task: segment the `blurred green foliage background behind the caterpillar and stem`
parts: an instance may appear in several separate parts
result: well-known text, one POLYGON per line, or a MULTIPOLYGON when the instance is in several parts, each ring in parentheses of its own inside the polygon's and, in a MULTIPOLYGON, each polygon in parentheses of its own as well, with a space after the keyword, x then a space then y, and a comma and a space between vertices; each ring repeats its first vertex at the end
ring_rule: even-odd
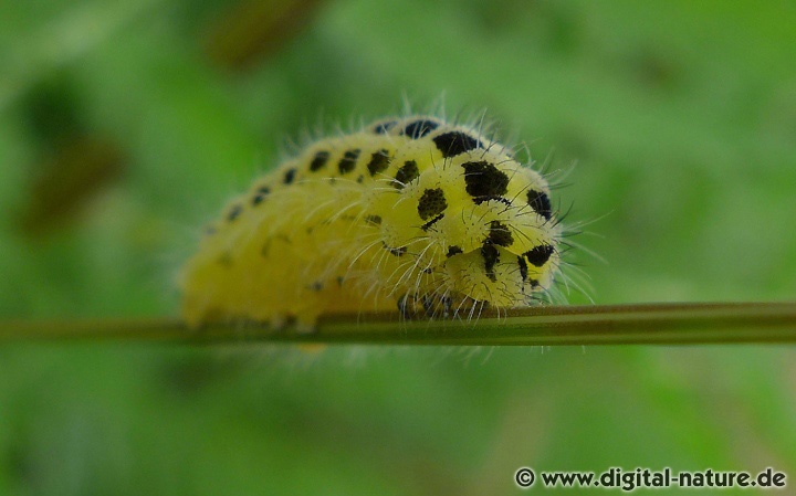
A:
MULTIPOLYGON (((794 61, 785 1, 2 2, 0 317, 176 314, 202 223, 285 138, 443 93, 572 169, 596 303, 794 299, 794 61)), ((4 345, 0 494, 514 494, 522 465, 794 487, 795 359, 4 345)))

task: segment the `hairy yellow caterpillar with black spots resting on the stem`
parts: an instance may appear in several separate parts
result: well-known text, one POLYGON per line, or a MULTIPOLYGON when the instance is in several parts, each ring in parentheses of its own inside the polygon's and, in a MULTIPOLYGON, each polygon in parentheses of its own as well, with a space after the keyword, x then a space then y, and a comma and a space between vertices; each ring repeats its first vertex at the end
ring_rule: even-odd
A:
POLYGON ((181 271, 185 320, 312 328, 327 313, 538 302, 562 226, 545 178, 493 138, 410 115, 311 143, 208 226, 181 271))

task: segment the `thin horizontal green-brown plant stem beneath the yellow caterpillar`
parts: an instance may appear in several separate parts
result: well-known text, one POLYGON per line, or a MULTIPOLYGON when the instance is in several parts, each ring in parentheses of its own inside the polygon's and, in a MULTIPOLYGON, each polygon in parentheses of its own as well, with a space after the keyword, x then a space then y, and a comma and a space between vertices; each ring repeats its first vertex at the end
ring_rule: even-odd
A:
POLYGON ((178 344, 661 345, 796 342, 796 303, 540 306, 484 312, 471 320, 400 320, 397 315, 322 318, 314 333, 237 323, 189 329, 177 318, 0 323, 0 344, 22 340, 178 344))

